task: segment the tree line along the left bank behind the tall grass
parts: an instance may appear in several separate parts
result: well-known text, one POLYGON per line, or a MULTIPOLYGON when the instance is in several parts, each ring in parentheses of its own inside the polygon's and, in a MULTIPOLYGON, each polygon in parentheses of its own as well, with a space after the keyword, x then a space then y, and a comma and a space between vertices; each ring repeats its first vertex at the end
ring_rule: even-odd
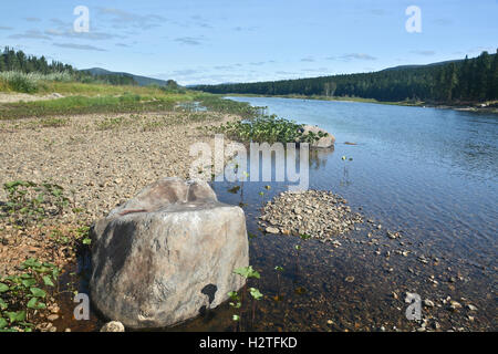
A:
POLYGON ((48 62, 44 55, 38 58, 35 55, 27 55, 23 51, 15 51, 6 46, 0 52, 0 72, 14 71, 22 73, 41 73, 51 74, 66 72, 71 74, 74 81, 80 82, 98 82, 112 85, 136 85, 135 80, 125 74, 106 74, 93 75, 92 73, 79 71, 72 65, 61 63, 59 61, 48 62))

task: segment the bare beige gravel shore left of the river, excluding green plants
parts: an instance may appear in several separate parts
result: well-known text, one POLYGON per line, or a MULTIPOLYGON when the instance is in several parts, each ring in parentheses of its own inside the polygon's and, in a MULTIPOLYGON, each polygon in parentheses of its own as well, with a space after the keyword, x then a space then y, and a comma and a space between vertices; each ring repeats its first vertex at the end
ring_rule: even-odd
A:
MULTIPOLYGON (((74 252, 46 237, 53 229, 90 225, 159 178, 187 178, 190 145, 214 144, 198 127, 236 118, 167 112, 0 121, 1 185, 50 181, 70 199, 62 215, 43 225, 19 228, 0 218, 0 275, 30 257, 64 266, 74 252)), ((0 202, 6 200, 1 189, 0 202)))

